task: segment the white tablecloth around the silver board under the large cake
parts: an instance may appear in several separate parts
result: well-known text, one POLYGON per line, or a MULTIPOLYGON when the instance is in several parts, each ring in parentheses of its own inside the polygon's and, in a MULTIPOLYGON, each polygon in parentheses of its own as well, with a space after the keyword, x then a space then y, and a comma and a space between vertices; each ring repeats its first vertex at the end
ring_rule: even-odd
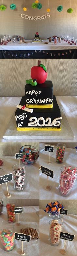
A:
MULTIPOLYGON (((0 142, 7 141, 2 139, 4 132, 7 128, 7 125, 16 110, 16 104, 19 104, 21 97, 0 97, 0 142)), ((56 97, 58 105, 62 106, 64 113, 68 119, 69 125, 75 138, 72 140, 73 142, 77 141, 77 96, 57 96, 56 97), (71 104, 72 103, 72 104, 71 104), (73 107, 72 107, 73 106, 73 107)), ((39 137, 37 137, 38 142, 40 142, 39 137)), ((14 140, 16 142, 18 140, 14 140)), ((31 140, 37 141, 37 140, 31 140)), ((45 140, 50 142, 48 138, 45 140)), ((54 139, 54 142, 58 140, 54 139)), ((70 142, 70 140, 66 140, 65 142, 70 142)), ((60 141, 59 141, 60 142, 60 141)))

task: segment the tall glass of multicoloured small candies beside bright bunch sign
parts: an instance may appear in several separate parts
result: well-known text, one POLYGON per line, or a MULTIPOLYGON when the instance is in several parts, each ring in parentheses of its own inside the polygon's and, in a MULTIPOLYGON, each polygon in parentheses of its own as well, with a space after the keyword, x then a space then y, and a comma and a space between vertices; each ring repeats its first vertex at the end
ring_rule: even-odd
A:
POLYGON ((57 144, 57 151, 56 151, 56 162, 57 163, 63 163, 65 147, 66 147, 66 145, 63 143, 57 144))

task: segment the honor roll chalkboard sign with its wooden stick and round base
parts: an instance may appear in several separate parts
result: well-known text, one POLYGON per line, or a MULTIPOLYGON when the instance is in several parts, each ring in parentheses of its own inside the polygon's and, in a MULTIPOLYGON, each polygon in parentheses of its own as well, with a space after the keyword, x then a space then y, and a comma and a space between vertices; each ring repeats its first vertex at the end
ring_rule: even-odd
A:
MULTIPOLYGON (((0 176, 0 185, 6 183, 7 192, 8 192, 8 184, 7 184, 7 183, 8 183, 9 181, 11 181, 12 179, 13 179, 12 173, 9 173, 9 174, 7 174, 7 175, 0 176)), ((7 197, 7 198, 11 197, 11 194, 8 192, 8 193, 6 194, 6 197, 7 197)))

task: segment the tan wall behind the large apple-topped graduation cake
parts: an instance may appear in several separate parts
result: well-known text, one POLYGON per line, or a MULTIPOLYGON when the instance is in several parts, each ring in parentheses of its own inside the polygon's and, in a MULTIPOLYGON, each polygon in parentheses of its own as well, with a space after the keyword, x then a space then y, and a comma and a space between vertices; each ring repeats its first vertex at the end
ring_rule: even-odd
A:
MULTIPOLYGON (((25 95, 26 79, 31 78, 31 67, 37 63, 38 59, 0 60, 0 96, 25 95)), ((55 96, 77 95, 76 59, 42 59, 42 64, 47 67, 47 80, 52 80, 55 96)))

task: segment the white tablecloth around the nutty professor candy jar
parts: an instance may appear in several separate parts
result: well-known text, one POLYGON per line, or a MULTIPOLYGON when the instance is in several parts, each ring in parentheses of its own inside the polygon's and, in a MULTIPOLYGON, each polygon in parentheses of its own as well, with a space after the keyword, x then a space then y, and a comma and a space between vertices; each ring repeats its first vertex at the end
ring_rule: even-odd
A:
MULTIPOLYGON (((51 218, 43 210, 40 210, 40 255, 61 256, 60 249, 64 248, 64 239, 60 239, 58 246, 52 246, 49 242, 49 221, 51 218)), ((62 232, 75 235, 73 242, 66 241, 66 256, 77 255, 77 232, 76 232, 77 215, 68 214, 64 216, 62 232)))

